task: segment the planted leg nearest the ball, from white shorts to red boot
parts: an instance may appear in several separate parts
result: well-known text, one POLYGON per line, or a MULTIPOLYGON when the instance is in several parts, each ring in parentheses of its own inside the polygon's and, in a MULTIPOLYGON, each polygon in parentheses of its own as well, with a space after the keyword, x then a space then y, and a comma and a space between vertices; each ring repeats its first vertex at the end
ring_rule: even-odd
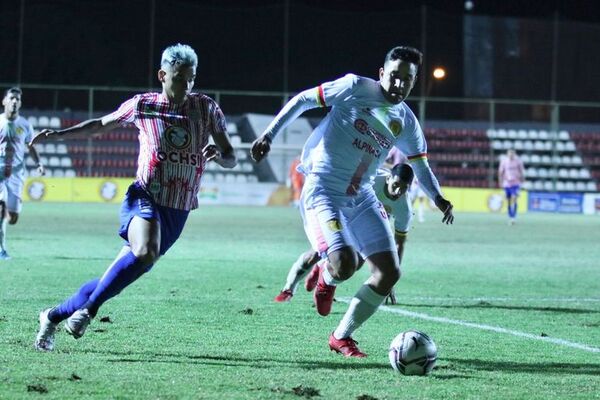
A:
POLYGON ((366 356, 356 347, 352 334, 367 321, 384 302, 400 279, 400 265, 391 229, 382 206, 365 204, 359 217, 350 222, 357 247, 366 256, 371 277, 356 292, 348 310, 329 338, 332 350, 351 357, 366 356))

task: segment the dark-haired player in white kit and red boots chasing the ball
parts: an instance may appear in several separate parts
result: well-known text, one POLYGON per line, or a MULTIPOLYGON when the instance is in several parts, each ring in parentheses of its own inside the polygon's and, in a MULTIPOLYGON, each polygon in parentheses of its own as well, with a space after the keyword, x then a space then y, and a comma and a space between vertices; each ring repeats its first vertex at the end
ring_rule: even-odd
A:
POLYGON ((294 96, 252 144, 257 162, 271 149, 275 136, 304 111, 331 106, 302 151, 306 175, 302 190, 304 227, 314 251, 327 254, 314 300, 317 312, 328 315, 336 285, 359 265, 369 264, 371 277, 358 290, 329 347, 345 356, 364 357, 352 333, 383 303, 398 279, 400 264, 387 214, 373 190, 373 178, 393 146, 408 156, 424 190, 452 223, 452 204, 441 192, 427 162, 427 145, 417 118, 404 99, 410 94, 422 61, 420 51, 391 49, 379 81, 348 74, 294 96))

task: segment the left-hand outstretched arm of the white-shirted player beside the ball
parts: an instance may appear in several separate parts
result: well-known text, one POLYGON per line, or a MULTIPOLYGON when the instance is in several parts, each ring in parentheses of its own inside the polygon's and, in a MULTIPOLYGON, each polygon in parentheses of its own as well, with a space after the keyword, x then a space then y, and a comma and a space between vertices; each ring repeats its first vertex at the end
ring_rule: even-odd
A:
MULTIPOLYGON (((271 150, 273 139, 285 127, 294 122, 303 112, 322 107, 318 98, 319 88, 312 88, 298 93, 279 111, 279 114, 271 121, 263 134, 252 143, 250 154, 254 161, 259 162, 267 156, 271 150), (317 93, 317 95, 315 95, 317 93)), ((321 91, 322 92, 322 91, 321 91)))

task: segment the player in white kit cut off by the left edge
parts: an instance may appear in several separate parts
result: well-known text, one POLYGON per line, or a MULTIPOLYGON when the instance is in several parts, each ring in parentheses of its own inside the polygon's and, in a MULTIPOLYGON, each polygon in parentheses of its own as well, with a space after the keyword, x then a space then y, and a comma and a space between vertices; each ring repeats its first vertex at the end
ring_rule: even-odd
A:
POLYGON ((23 206, 21 193, 25 180, 25 148, 37 165, 40 175, 44 166, 29 142, 33 137, 31 124, 19 115, 21 89, 12 87, 4 93, 0 115, 0 260, 9 260, 6 252, 6 224, 14 225, 19 220, 23 206))

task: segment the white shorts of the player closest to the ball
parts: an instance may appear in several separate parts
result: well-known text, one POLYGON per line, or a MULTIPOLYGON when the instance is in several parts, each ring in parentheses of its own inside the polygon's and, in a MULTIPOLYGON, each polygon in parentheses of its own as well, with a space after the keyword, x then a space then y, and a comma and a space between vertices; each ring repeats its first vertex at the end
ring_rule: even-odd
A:
POLYGON ((346 246, 365 259, 387 251, 396 254, 392 228, 373 188, 350 197, 305 184, 301 202, 306 236, 321 256, 346 246))

